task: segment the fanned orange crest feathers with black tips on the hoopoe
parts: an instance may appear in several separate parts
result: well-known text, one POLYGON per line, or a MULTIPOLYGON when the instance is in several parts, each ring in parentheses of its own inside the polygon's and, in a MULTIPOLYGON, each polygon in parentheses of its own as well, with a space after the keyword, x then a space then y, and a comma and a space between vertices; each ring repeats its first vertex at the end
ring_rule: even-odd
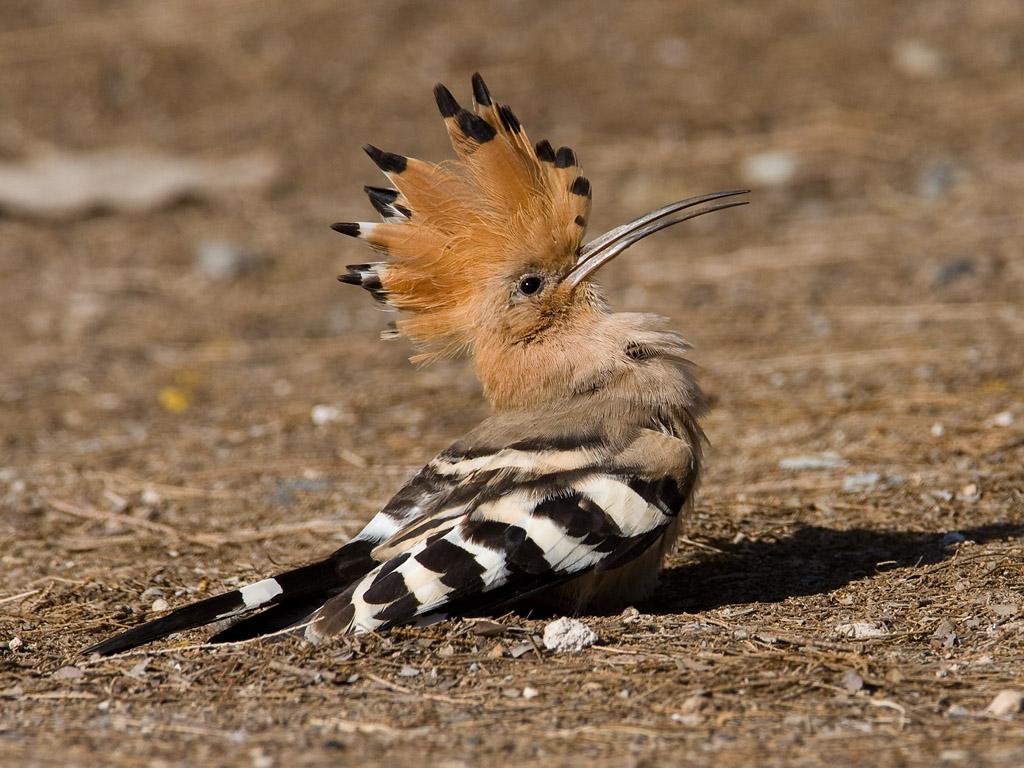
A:
POLYGON ((334 228, 369 243, 380 262, 339 280, 361 285, 404 317, 398 331, 424 350, 457 352, 472 342, 481 282, 534 267, 548 273, 575 263, 590 215, 590 182, 575 154, 530 143, 512 111, 472 79, 472 110, 443 85, 434 98, 457 160, 435 165, 368 144, 393 189, 368 186, 382 223, 334 228))

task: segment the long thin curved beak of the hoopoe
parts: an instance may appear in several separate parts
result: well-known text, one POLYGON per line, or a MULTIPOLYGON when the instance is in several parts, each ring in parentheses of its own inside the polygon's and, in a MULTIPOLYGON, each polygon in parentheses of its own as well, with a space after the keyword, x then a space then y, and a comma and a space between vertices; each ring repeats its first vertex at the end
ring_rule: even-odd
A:
POLYGON ((706 213, 744 206, 750 201, 740 200, 730 203, 718 203, 707 208, 698 208, 695 211, 686 209, 693 208, 702 203, 710 203, 713 200, 720 200, 721 198, 746 195, 749 191, 750 189, 735 189, 733 191, 712 193, 711 195, 688 198, 678 203, 670 203, 664 208, 658 208, 656 211, 644 214, 628 224, 616 226, 614 229, 592 240, 583 247, 580 251, 580 258, 577 259, 575 264, 562 278, 562 285, 566 286, 569 291, 574 290, 590 274, 593 274, 627 248, 637 241, 643 240, 648 234, 653 234, 660 229, 665 229, 667 226, 679 224, 697 216, 703 216, 706 213), (681 216, 672 215, 680 211, 686 211, 686 213, 681 216))

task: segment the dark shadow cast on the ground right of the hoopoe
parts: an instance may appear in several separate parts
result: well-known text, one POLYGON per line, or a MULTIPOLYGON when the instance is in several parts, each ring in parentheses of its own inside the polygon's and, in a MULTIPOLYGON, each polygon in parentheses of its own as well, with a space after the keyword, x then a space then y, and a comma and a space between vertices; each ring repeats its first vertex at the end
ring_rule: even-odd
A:
MULTIPOLYGON (((1022 537, 1024 525, 996 523, 959 532, 967 541, 984 544, 1022 537)), ((775 541, 709 543, 722 552, 701 553, 668 568, 654 597, 638 607, 649 613, 678 613, 779 602, 831 592, 885 570, 941 562, 956 551, 948 540, 943 546, 942 534, 817 525, 775 541)))

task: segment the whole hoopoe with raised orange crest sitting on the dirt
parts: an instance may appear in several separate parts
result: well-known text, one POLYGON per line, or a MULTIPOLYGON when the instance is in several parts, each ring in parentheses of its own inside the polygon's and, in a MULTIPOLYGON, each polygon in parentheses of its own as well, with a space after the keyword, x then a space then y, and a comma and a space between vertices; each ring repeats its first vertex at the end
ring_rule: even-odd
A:
POLYGON ((326 559, 86 653, 243 614, 211 642, 292 631, 325 643, 523 603, 579 612, 652 594, 693 506, 707 400, 687 342, 660 317, 611 312, 593 275, 648 234, 743 205, 717 201, 746 190, 673 203, 583 245, 591 185, 575 154, 531 144, 479 75, 472 85, 472 110, 434 89, 458 160, 366 146, 393 185, 366 187, 383 221, 333 228, 381 259, 339 280, 403 314, 390 335, 416 344, 415 360, 468 352, 493 415, 326 559))

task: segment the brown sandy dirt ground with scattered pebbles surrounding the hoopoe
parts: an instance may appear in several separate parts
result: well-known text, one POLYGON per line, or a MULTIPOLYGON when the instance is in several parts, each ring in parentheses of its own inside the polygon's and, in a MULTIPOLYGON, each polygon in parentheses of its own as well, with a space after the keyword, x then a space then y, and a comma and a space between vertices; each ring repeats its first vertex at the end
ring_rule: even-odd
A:
POLYGON ((1020 765, 1022 73, 1019 0, 5 0, 0 764, 1020 765), (592 236, 754 190, 602 272, 713 401, 657 596, 577 654, 511 614, 83 658, 336 548, 484 416, 329 229, 365 142, 449 157, 430 89, 477 70, 577 150, 592 236))

